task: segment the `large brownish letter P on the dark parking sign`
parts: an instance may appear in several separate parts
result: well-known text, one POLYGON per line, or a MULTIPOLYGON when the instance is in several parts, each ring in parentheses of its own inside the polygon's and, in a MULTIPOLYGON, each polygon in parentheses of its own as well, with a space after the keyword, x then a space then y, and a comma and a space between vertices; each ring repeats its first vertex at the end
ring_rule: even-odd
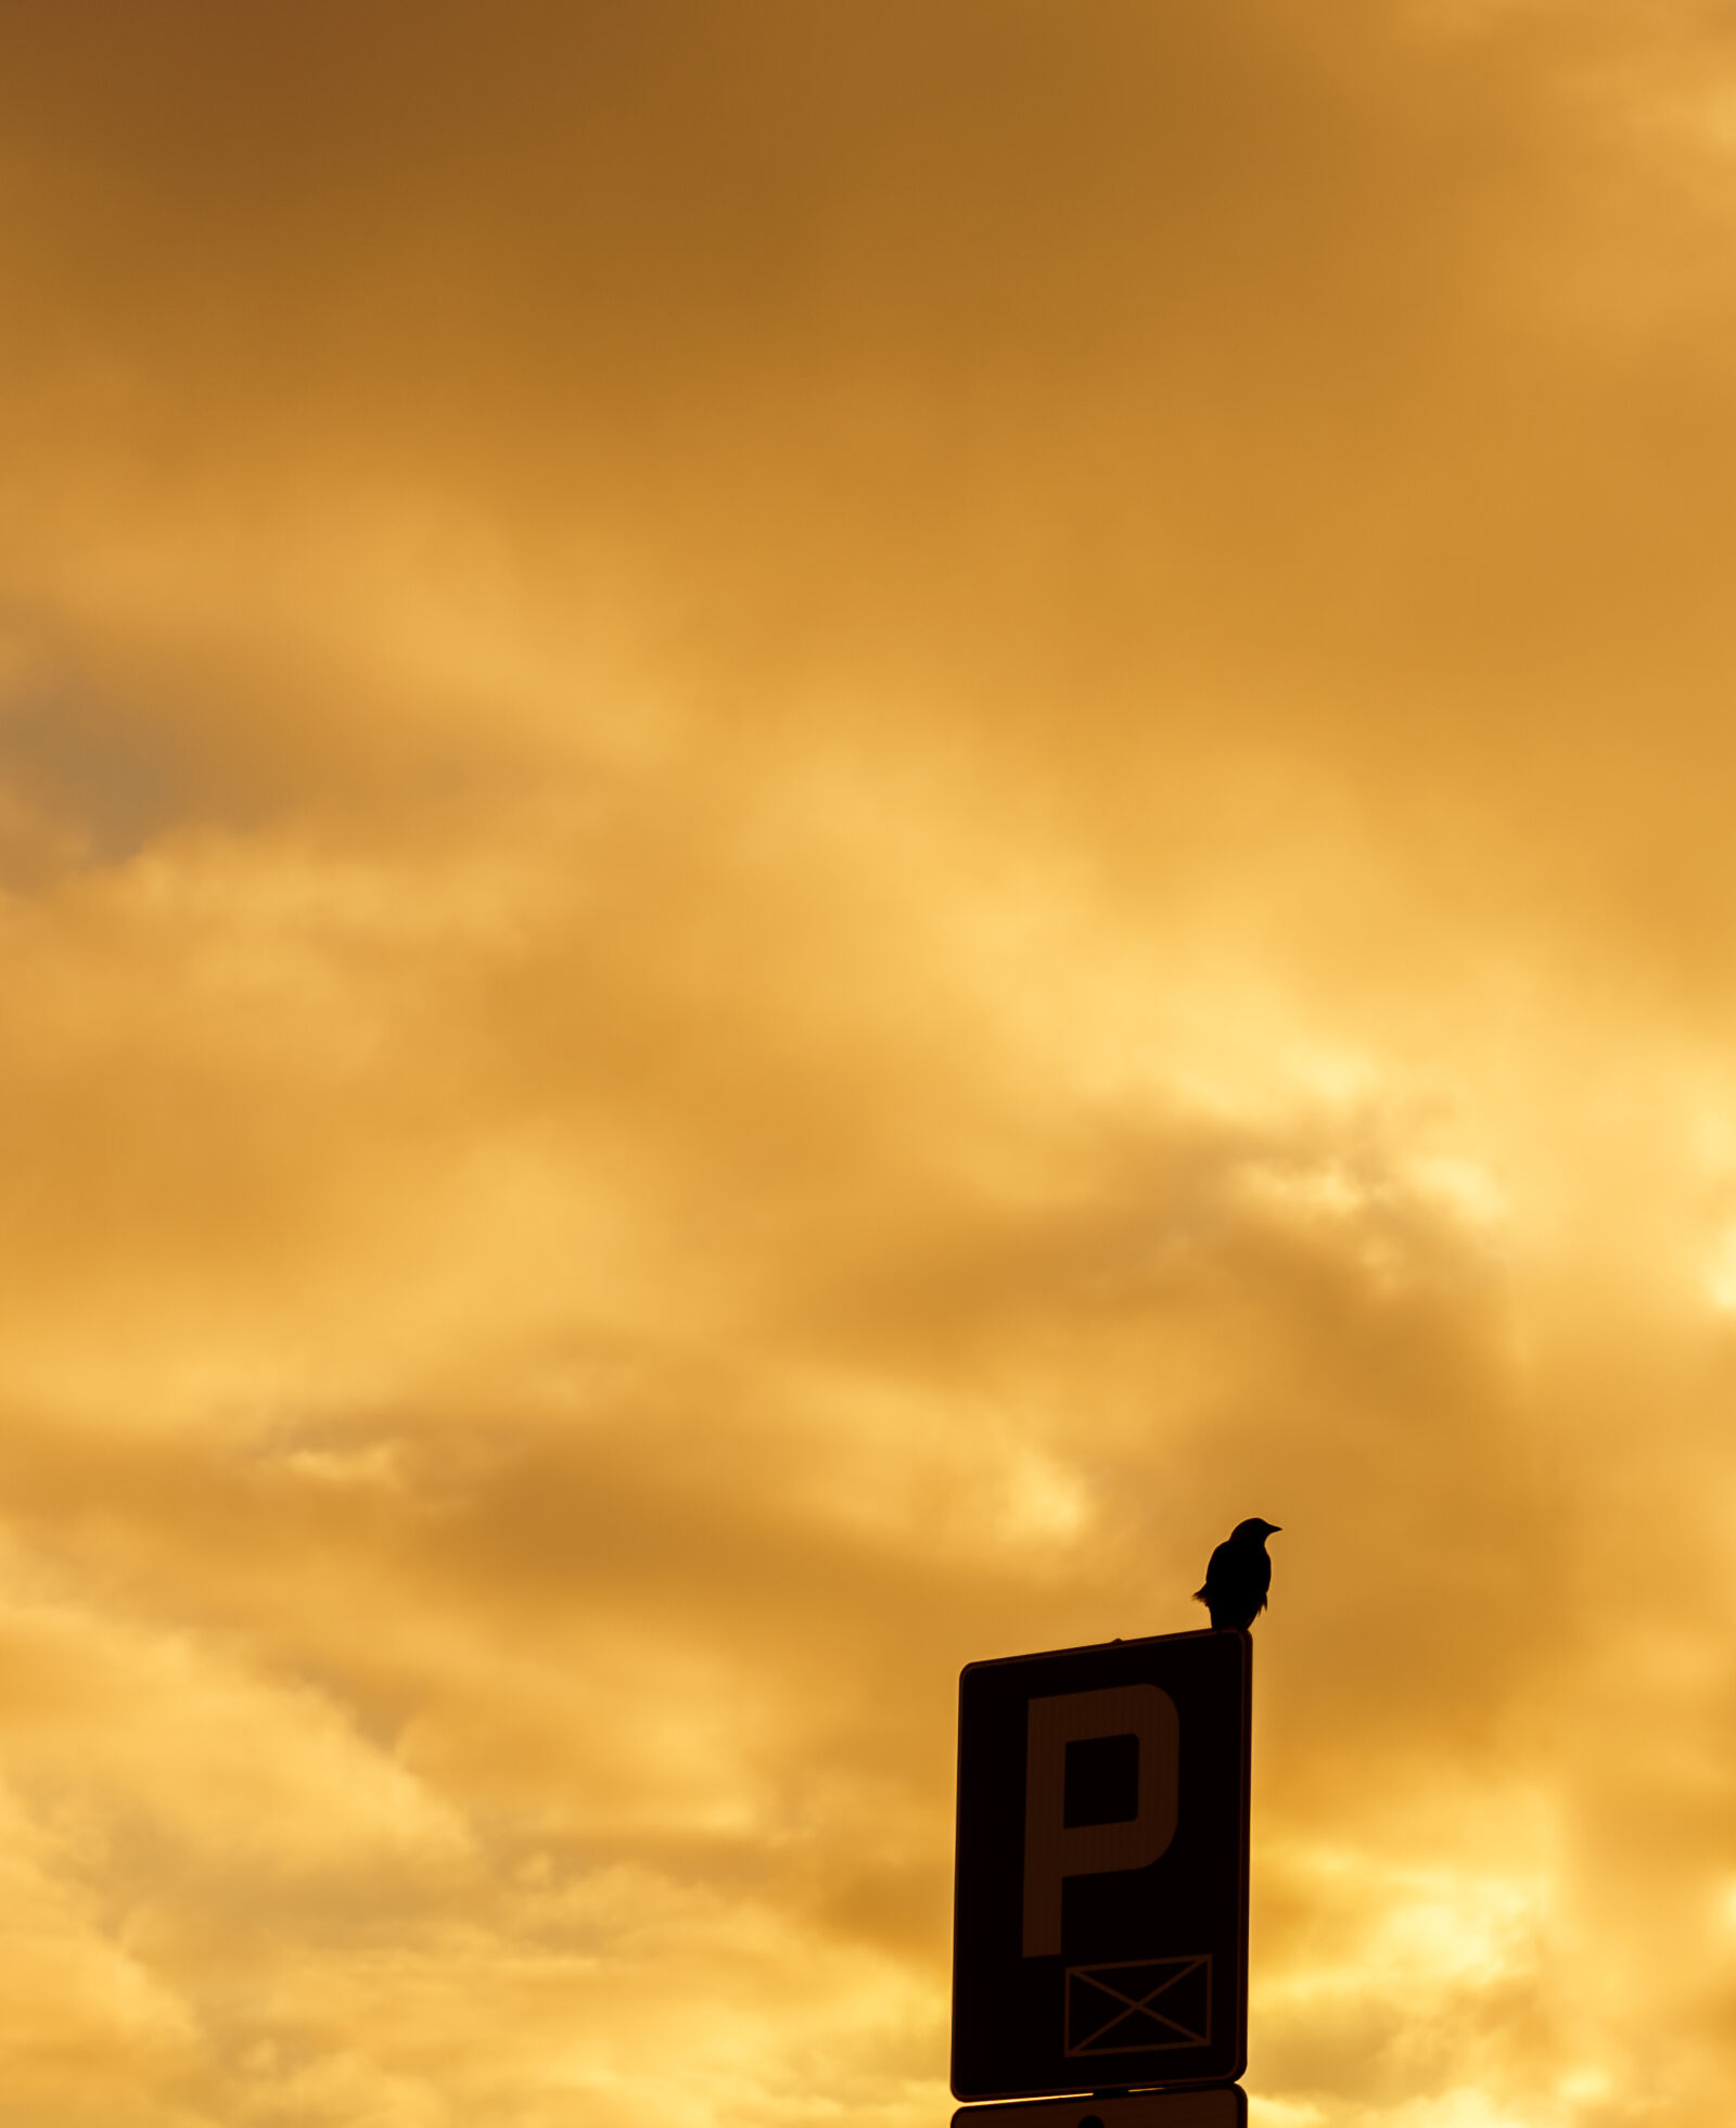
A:
POLYGON ((1062 1883, 1145 1868, 1174 1839, 1181 1726, 1157 1685, 1034 1698, 1025 1730, 1025 1958, 1062 1947, 1062 1883), (1094 1736, 1138 1739, 1138 1802, 1104 1826, 1066 1822, 1066 1747, 1094 1736))

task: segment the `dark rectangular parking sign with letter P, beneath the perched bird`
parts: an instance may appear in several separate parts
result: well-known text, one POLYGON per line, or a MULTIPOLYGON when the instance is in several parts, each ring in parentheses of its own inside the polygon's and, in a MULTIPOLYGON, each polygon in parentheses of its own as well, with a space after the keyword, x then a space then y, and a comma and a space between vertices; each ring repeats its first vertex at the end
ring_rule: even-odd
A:
POLYGON ((1242 2073, 1251 1675, 1245 1632, 964 1670, 957 2098, 1242 2073))

